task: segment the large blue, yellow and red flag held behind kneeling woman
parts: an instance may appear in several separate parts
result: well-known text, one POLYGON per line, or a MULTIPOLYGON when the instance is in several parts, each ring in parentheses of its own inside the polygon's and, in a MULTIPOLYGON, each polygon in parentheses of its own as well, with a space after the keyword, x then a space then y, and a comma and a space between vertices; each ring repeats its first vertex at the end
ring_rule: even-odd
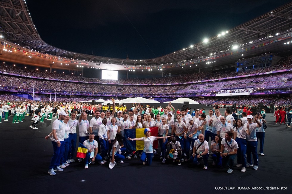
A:
MULTIPOLYGON (((150 127, 151 130, 151 136, 158 136, 158 127, 150 127)), ((124 146, 126 148, 126 151, 137 151, 137 150, 143 150, 144 149, 144 141, 130 141, 128 140, 128 137, 130 138, 140 138, 145 137, 144 134, 145 128, 140 129, 124 129, 125 133, 125 142, 124 146)), ((153 142, 153 148, 158 148, 158 140, 153 142)), ((79 150, 79 148, 78 148, 79 150)))

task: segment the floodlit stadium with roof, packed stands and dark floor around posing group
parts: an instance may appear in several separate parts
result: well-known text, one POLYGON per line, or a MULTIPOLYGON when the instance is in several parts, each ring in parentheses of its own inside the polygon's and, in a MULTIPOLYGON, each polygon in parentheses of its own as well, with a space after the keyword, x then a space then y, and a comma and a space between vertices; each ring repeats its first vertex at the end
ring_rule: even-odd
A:
MULTIPOLYGON (((141 192, 140 189, 167 193, 191 191, 188 186, 174 189, 160 187, 163 179, 169 179, 167 176, 186 176, 185 179, 190 182, 197 182, 195 177, 204 177, 198 185, 203 186, 207 193, 216 192, 218 186, 267 187, 264 189, 267 193, 287 192, 268 188, 271 186, 291 190, 291 175, 288 173, 291 171, 291 151, 276 149, 271 143, 281 140, 284 147, 288 147, 291 133, 286 125, 275 125, 273 117, 278 108, 288 111, 292 107, 291 2, 274 9, 271 7, 265 14, 218 35, 148 59, 102 57, 52 46, 42 40, 25 0, 1 1, 0 16, 0 102, 3 109, 8 103, 10 107, 9 119, 5 118, 5 121, 10 121, 0 120, 1 147, 5 148, 2 174, 7 177, 1 183, 3 191, 89 193, 92 192, 92 188, 86 185, 89 181, 100 184, 98 188, 103 193, 108 190, 124 193, 126 191, 122 190, 128 188, 131 188, 128 193, 141 192), (143 97, 142 101, 137 100, 140 97, 143 97), (132 98, 135 99, 126 101, 132 98), (183 100, 175 102, 178 98, 183 100), (225 168, 209 167, 206 172, 186 162, 180 169, 171 162, 164 165, 159 155, 148 167, 138 165, 138 160, 126 159, 125 164, 118 164, 112 170, 105 163, 103 166, 91 165, 84 171, 83 164, 72 162, 64 172, 48 176, 46 169, 52 148, 44 137, 52 131, 53 121, 58 120, 55 118, 59 113, 58 107, 70 107, 68 109, 72 113, 86 108, 90 120, 101 106, 99 104, 103 105, 101 112, 110 110, 112 113, 114 101, 119 104, 114 114, 118 109, 128 114, 128 110, 138 104, 142 105, 141 112, 153 107, 161 115, 167 105, 173 112, 187 108, 192 113, 195 109, 204 108, 206 115, 213 107, 220 108, 222 115, 226 108, 238 112, 248 107, 254 116, 265 109, 270 129, 265 149, 269 152, 265 157, 259 157, 259 170, 241 173, 239 169, 239 172, 232 173, 232 178, 225 174, 225 168), (29 128, 31 118, 28 115, 32 109, 27 107, 28 104, 51 106, 52 122, 44 122, 43 119, 38 128, 36 125, 36 129, 29 128), (15 122, 12 110, 18 105, 26 119, 19 121, 17 118, 15 122), (11 121, 14 127, 10 126, 11 121), (11 144, 13 139, 18 143, 11 144), (88 179, 92 173, 99 177, 88 179), (270 179, 271 175, 276 179, 270 179), (116 184, 111 188, 113 177, 116 184), (213 178, 217 181, 213 182, 213 178), (147 180, 154 180, 153 186, 145 185, 147 180), (11 191, 13 187, 15 191, 11 191), (66 187, 68 190, 64 189, 66 187)), ((211 160, 209 158, 209 163, 211 160)), ((184 178, 176 180, 176 183, 185 184, 184 178)), ((165 186, 168 184, 165 183, 165 186)), ((226 191, 220 188, 220 192, 226 191)))

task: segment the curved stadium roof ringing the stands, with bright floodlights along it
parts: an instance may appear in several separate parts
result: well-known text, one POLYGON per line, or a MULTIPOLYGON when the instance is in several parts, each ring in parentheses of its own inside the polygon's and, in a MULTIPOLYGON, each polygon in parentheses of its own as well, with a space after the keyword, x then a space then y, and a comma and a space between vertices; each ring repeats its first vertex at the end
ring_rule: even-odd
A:
MULTIPOLYGON (((231 48, 234 45, 240 46, 263 37, 273 36, 276 33, 285 33, 287 29, 291 29, 291 22, 292 2, 230 29, 224 35, 210 37, 206 43, 196 43, 153 59, 127 60, 75 53, 74 51, 66 51, 51 46, 41 39, 25 0, 0 1, 0 27, 1 31, 4 32, 2 34, 10 42, 55 56, 117 65, 178 64, 200 59, 209 56, 211 53, 213 55, 218 54, 224 48, 231 48)), ((291 32, 291 30, 289 31, 291 32)))

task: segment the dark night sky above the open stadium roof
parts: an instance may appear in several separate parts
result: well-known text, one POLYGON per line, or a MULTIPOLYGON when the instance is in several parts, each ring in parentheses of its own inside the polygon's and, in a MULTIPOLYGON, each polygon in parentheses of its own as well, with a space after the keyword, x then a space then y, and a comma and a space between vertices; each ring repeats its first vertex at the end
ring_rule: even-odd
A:
POLYGON ((41 38, 68 51, 150 59, 218 35, 291 0, 26 0, 41 38))

